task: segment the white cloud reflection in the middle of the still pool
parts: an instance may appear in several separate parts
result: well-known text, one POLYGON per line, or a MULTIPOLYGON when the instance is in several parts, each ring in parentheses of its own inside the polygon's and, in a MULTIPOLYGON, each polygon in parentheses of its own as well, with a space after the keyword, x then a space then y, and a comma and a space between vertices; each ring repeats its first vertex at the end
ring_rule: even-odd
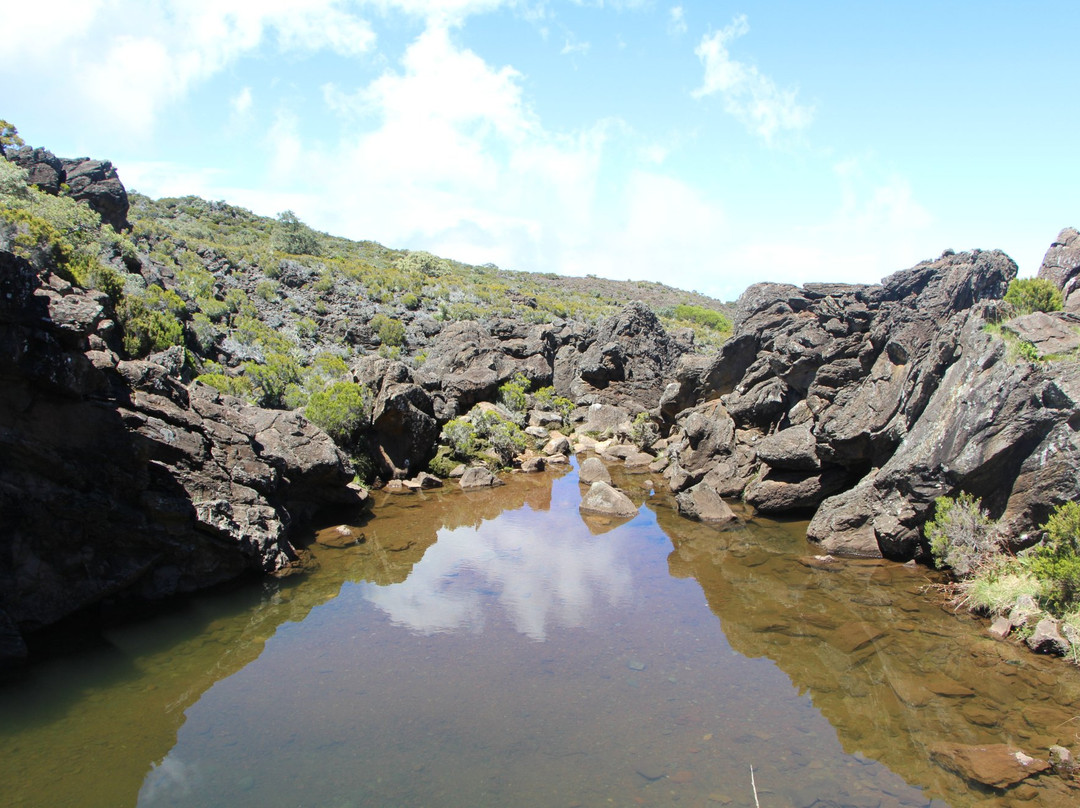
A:
POLYGON ((543 641, 552 625, 584 627, 598 605, 629 602, 630 565, 618 547, 592 537, 577 508, 526 507, 440 530, 402 583, 360 585, 395 623, 423 634, 483 631, 498 603, 518 632, 543 641))

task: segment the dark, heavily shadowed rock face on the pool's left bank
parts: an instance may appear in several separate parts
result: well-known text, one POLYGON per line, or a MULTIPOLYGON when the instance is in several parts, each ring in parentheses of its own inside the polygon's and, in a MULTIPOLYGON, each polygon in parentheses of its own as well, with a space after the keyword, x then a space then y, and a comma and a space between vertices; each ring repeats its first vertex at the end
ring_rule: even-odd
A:
POLYGON ((298 512, 355 498, 324 432, 188 388, 170 355, 120 360, 109 313, 0 252, 0 625, 19 632, 282 570, 298 512))

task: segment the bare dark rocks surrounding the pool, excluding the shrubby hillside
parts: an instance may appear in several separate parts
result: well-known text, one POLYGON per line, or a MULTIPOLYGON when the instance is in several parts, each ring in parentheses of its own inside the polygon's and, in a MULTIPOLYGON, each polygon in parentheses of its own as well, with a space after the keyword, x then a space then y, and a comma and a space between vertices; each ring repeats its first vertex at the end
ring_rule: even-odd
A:
MULTIPOLYGON (((49 152, 26 151, 31 179, 56 173, 49 152)), ((85 175, 80 198, 123 228, 110 165, 58 165, 85 175)), ((53 179, 64 181, 41 181, 53 179)), ((287 571, 301 562, 289 542, 297 519, 363 507, 348 457, 357 446, 336 446, 299 410, 194 381, 179 346, 124 359, 108 295, 18 257, 10 239, 0 247, 0 659, 24 658, 25 635, 106 598, 287 571)), ((216 294, 253 297, 260 277, 203 258, 216 294)), ((147 256, 136 266, 149 284, 179 285, 147 256)), ((347 342, 359 335, 349 371, 374 393, 363 452, 382 481, 405 486, 448 421, 498 406, 500 387, 524 378, 572 403, 579 448, 607 439, 608 460, 663 474, 686 517, 723 524, 724 499, 740 498, 811 516, 824 552, 926 562, 921 527, 936 497, 981 497, 1014 549, 1038 540, 1054 506, 1080 498, 1077 232, 1062 232, 1040 273, 1066 294, 1066 311, 1013 318, 1001 298, 1015 274, 1003 253, 975 251, 874 285, 756 284, 713 354, 638 302, 596 324, 401 309, 409 354, 399 356, 364 348, 377 309, 354 297, 324 295, 319 326, 347 342), (1013 355, 1001 329, 1038 355, 1013 355), (647 447, 631 440, 635 425, 654 432, 647 447)), ((234 349, 218 340, 212 358, 234 349)), ((528 414, 536 448, 518 454, 522 470, 570 449, 552 445, 549 416, 528 414)))

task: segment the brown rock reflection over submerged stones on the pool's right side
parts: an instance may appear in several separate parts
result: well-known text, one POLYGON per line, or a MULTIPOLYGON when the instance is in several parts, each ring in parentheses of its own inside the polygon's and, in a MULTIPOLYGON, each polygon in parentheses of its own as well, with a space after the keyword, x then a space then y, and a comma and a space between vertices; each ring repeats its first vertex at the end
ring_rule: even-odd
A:
MULTIPOLYGON (((935 766, 935 743, 1009 743, 1042 758, 1054 743, 1077 748, 1076 672, 947 612, 930 589, 939 580, 931 570, 881 561, 812 568, 799 563, 815 552, 802 523, 719 534, 666 504, 654 509, 674 544, 672 575, 701 584, 732 648, 773 660, 810 695, 849 754, 967 806, 994 792, 935 766)), ((1021 791, 985 805, 1012 805, 1014 796, 1080 802, 1080 791, 1052 776, 1021 791)))

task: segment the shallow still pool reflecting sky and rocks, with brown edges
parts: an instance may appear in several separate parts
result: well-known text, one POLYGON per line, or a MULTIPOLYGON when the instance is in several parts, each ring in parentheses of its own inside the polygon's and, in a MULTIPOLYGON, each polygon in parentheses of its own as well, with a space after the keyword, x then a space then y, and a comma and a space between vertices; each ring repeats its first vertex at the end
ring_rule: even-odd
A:
MULTIPOLYGON (((1080 676, 937 604, 927 570, 800 563, 643 476, 383 496, 320 568, 192 598, 0 689, 8 806, 1058 806, 930 760, 1080 751, 1080 676), (359 531, 357 530, 357 531, 359 531), (986 802, 988 800, 988 802, 986 802)), ((321 534, 333 537, 333 528, 321 534)))

